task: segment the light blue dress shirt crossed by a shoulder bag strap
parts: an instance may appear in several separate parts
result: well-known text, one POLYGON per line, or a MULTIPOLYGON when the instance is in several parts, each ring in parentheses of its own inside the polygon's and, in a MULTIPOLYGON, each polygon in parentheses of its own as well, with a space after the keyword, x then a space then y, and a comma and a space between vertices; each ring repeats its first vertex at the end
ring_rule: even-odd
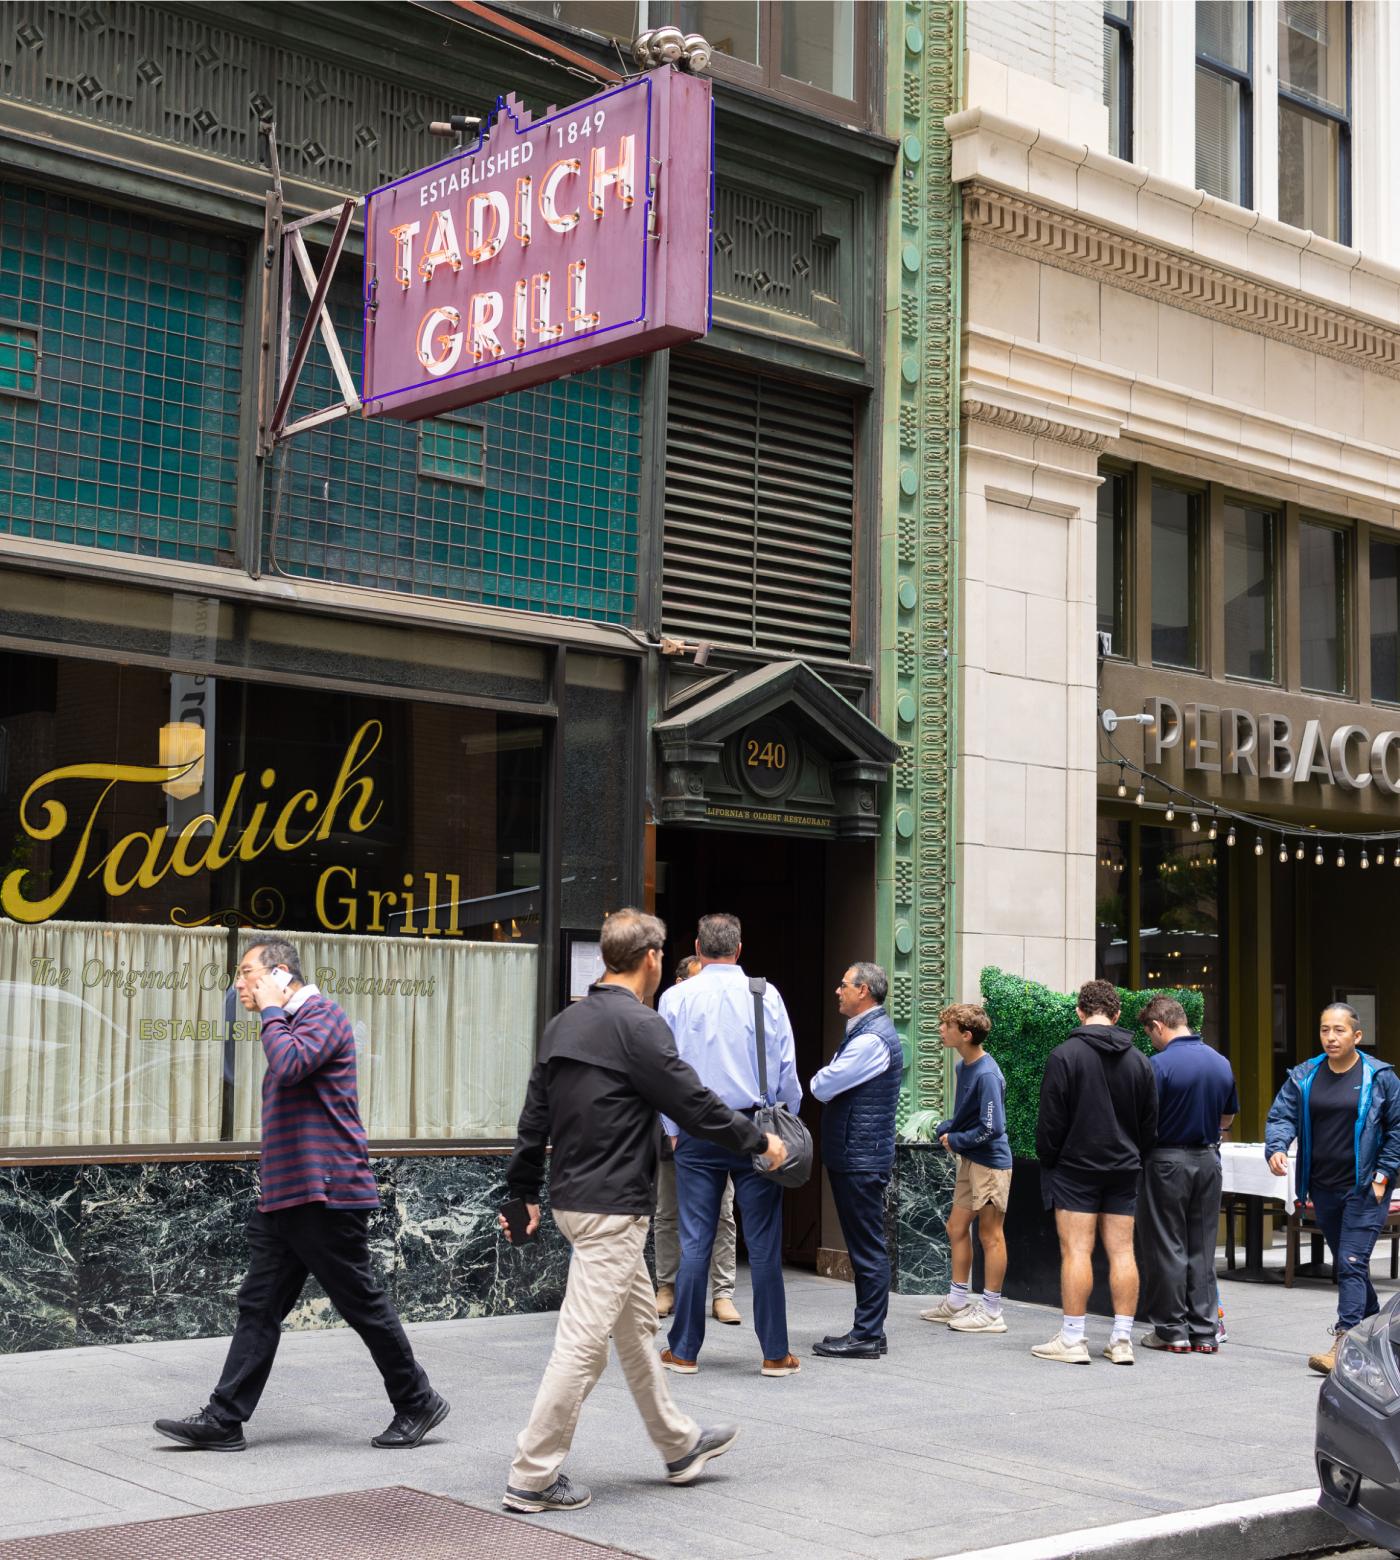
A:
MULTIPOLYGON (((676 1036, 680 1061, 732 1111, 760 1104, 759 1056, 754 1047, 754 995, 740 964, 705 964, 698 975, 662 992, 657 1012, 676 1036)), ((763 1050, 768 1058, 768 1095, 790 1111, 802 1103, 793 1025, 777 989, 763 992, 763 1050)), ((676 1123, 662 1117, 674 1137, 676 1123)))

